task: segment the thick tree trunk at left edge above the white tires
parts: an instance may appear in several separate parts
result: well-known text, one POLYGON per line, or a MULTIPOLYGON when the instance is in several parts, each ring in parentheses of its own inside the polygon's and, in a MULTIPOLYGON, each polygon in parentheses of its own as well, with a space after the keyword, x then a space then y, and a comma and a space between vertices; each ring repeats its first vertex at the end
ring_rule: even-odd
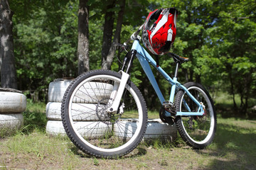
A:
POLYGON ((14 60, 14 38, 11 11, 7 0, 0 0, 0 68, 1 86, 4 88, 17 89, 17 74, 14 60))

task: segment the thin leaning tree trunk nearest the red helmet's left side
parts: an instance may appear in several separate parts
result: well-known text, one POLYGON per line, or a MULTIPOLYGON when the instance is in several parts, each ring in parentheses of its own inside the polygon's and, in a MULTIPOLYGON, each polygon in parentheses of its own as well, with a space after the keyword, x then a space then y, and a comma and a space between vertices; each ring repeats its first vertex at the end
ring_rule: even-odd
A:
MULTIPOLYGON (((125 0, 121 0, 120 1, 120 10, 118 13, 118 18, 117 18, 117 28, 114 33, 113 42, 119 42, 119 40, 120 40, 120 34, 121 34, 121 30, 122 30, 122 20, 123 20, 123 16, 124 16, 124 6, 125 6, 125 0)), ((114 59, 114 53, 115 53, 115 47, 114 47, 114 44, 112 43, 105 62, 104 63, 102 62, 103 69, 111 69, 111 64, 114 59)))

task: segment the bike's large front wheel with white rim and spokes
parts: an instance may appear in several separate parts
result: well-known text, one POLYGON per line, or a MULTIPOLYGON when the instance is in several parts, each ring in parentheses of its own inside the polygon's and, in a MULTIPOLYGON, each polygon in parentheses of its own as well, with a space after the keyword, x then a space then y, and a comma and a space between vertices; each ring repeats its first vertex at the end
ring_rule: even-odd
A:
POLYGON ((146 103, 137 86, 127 83, 117 113, 107 113, 122 75, 95 70, 75 79, 63 97, 65 132, 76 147, 96 157, 131 152, 146 131, 146 103))

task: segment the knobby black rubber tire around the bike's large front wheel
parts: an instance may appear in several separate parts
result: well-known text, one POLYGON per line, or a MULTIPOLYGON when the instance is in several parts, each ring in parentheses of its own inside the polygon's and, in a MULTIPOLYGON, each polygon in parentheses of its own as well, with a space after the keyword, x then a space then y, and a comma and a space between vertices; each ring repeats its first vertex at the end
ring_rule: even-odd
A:
POLYGON ((131 86, 131 88, 135 91, 135 93, 139 97, 139 101, 142 103, 142 113, 146 114, 146 115, 144 115, 144 120, 142 123, 142 128, 144 128, 144 130, 140 132, 140 137, 138 137, 136 140, 134 140, 134 145, 129 145, 129 149, 126 149, 124 152, 121 150, 119 152, 114 152, 114 153, 107 152, 104 154, 102 152, 99 152, 95 149, 88 147, 87 145, 85 145, 85 143, 83 143, 82 141, 79 140, 79 137, 75 134, 75 132, 73 131, 73 128, 71 128, 70 122, 67 120, 68 118, 66 118, 66 115, 65 115, 65 111, 68 110, 68 103, 69 103, 68 102, 66 105, 65 101, 67 101, 68 98, 70 97, 70 95, 72 94, 72 93, 70 93, 70 95, 69 95, 69 91, 73 91, 75 89, 76 86, 73 86, 73 85, 74 84, 78 85, 84 79, 98 75, 98 74, 111 75, 111 76, 117 77, 119 79, 121 79, 121 76, 122 76, 121 74, 119 74, 117 72, 113 72, 111 70, 98 69, 98 70, 92 70, 90 72, 81 74, 79 77, 77 77, 75 79, 75 81, 72 81, 63 96, 63 102, 62 102, 62 106, 61 106, 61 117, 63 119, 63 126, 64 126, 65 132, 67 133, 70 140, 73 142, 73 144, 76 147, 78 147, 78 149, 82 150, 82 152, 85 152, 86 154, 90 154, 91 156, 94 156, 94 157, 104 157, 104 158, 122 157, 123 155, 128 154, 129 152, 132 152, 132 150, 134 150, 139 145, 139 143, 142 141, 142 139, 144 137, 144 134, 146 132, 146 125, 147 125, 146 102, 144 101, 144 97, 142 96, 142 93, 139 91, 137 86, 135 86, 135 84, 132 83, 132 81, 129 81, 128 84, 129 84, 129 86, 131 86))

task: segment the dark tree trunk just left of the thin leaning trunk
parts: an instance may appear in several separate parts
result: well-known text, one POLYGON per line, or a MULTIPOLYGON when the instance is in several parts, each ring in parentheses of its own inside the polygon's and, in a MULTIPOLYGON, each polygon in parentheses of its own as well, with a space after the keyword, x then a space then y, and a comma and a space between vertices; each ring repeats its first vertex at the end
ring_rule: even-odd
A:
POLYGON ((107 64, 107 55, 110 52, 110 47, 112 43, 112 35, 114 28, 114 11, 110 9, 114 8, 115 0, 113 0, 110 5, 107 6, 105 13, 105 23, 103 30, 103 41, 102 41, 102 69, 109 69, 109 64, 107 64))

